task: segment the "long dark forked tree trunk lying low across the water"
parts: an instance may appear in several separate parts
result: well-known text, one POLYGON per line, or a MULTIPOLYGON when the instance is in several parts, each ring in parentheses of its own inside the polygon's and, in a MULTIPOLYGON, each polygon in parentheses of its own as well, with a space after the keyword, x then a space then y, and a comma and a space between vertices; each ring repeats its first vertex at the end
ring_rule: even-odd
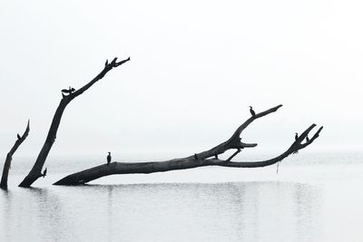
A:
POLYGON ((290 154, 297 152, 298 150, 304 149, 309 146, 314 140, 319 137, 319 132, 323 129, 320 127, 319 130, 312 136, 312 138, 306 142, 303 142, 306 137, 308 137, 309 131, 311 131, 316 124, 310 125, 310 127, 303 131, 297 140, 295 140, 288 150, 280 154, 279 156, 272 158, 270 160, 261 160, 261 161, 231 161, 241 149, 255 147, 256 143, 243 143, 240 140, 240 133, 246 129, 252 121, 255 121, 265 115, 268 115, 272 112, 277 111, 282 105, 271 108, 267 111, 262 111, 257 113, 255 116, 251 116, 250 119, 245 121, 240 125, 240 127, 233 133, 231 138, 211 150, 202 151, 201 153, 197 153, 191 155, 189 157, 174 159, 174 160, 166 160, 166 161, 153 161, 153 162, 112 162, 109 165, 103 164, 97 167, 93 167, 91 169, 84 169, 83 171, 76 172, 71 174, 64 179, 60 179, 54 183, 54 185, 67 185, 67 186, 75 186, 75 185, 83 185, 86 182, 89 182, 93 179, 99 179, 104 176, 109 176, 113 174, 132 174, 132 173, 153 173, 153 172, 162 172, 169 171, 174 169, 191 169, 203 166, 222 166, 222 167, 231 167, 231 168, 258 168, 270 166, 279 162, 280 160, 285 159, 290 154), (227 160, 218 159, 218 155, 224 153, 226 150, 235 149, 236 151, 231 155, 231 157, 227 160))

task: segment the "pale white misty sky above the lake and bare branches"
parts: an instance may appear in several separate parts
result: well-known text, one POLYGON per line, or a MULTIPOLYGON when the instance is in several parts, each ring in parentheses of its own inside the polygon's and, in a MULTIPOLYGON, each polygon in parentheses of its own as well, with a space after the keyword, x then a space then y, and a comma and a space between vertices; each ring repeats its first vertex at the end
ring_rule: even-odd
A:
POLYGON ((286 149, 324 125, 307 150, 363 148, 361 1, 1 1, 0 152, 31 132, 37 155, 60 90, 108 73, 64 112, 52 154, 120 156, 206 150, 228 139, 249 105, 277 113, 242 140, 286 149))

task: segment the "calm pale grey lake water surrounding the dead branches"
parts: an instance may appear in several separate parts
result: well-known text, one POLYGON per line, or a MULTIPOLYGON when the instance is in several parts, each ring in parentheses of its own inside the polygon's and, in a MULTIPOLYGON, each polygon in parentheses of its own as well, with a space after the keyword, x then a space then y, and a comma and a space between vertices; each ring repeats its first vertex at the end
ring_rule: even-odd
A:
POLYGON ((96 163, 50 158, 49 176, 20 189, 31 162, 15 159, 0 241, 363 241, 362 153, 301 152, 279 174, 207 167, 51 185, 96 163))

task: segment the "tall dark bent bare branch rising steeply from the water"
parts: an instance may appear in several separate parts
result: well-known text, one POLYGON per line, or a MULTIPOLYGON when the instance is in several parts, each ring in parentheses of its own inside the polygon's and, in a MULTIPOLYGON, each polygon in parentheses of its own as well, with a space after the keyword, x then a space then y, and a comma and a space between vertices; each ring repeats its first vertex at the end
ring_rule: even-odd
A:
POLYGON ((44 142, 44 146, 43 146, 42 150, 40 151, 40 153, 34 163, 33 169, 30 170, 29 174, 20 183, 19 187, 29 188, 36 179, 43 176, 42 169, 43 169, 45 160, 49 154, 49 151, 52 149, 52 146, 56 139, 56 133, 58 131, 58 127, 61 122, 62 115, 63 115, 64 109, 66 108, 66 106, 72 100, 74 100, 74 98, 78 97, 83 92, 88 90, 91 86, 93 86, 93 84, 95 82, 101 80, 106 73, 108 73, 109 71, 111 71, 113 69, 113 67, 117 67, 128 61, 130 61, 130 57, 121 62, 117 62, 117 58, 114 58, 111 63, 108 63, 108 61, 106 61, 102 72, 99 73, 96 77, 94 77, 91 82, 88 82, 87 84, 85 84, 81 89, 74 91, 74 90, 71 90, 71 88, 70 88, 69 90, 63 91, 65 93, 68 93, 68 95, 63 94, 63 99, 59 103, 59 106, 54 113, 53 121, 52 121, 51 127, 49 128, 48 135, 44 142))

